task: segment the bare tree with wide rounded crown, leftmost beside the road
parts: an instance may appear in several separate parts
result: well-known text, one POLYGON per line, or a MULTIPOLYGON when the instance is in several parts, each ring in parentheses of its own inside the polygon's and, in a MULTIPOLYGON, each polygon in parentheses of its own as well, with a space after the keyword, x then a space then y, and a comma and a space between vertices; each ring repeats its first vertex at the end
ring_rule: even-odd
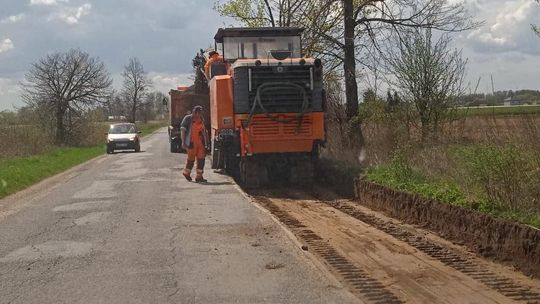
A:
POLYGON ((33 63, 21 83, 22 98, 32 108, 52 112, 57 144, 65 143, 66 114, 102 102, 112 80, 105 65, 79 49, 54 53, 33 63))

